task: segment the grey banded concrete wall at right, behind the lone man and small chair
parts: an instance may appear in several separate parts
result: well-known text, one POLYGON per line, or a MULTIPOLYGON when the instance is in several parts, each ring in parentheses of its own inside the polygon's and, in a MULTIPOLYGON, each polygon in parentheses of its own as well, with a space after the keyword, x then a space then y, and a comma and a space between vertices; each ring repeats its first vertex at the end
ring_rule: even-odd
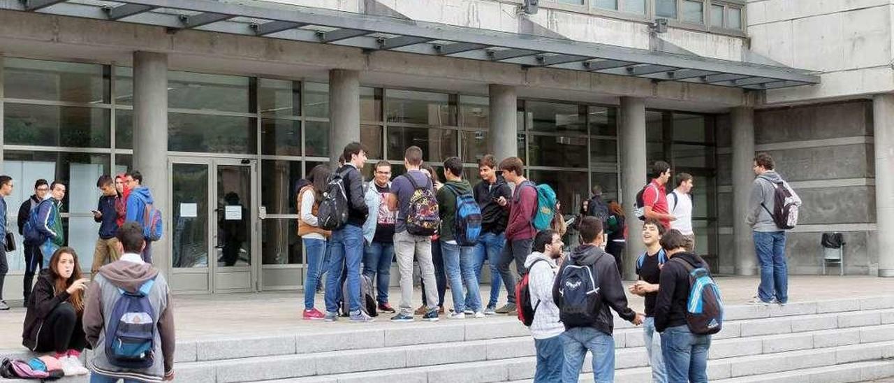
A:
MULTIPOLYGON (((822 232, 841 232, 848 274, 875 275, 875 187, 872 102, 857 100, 755 112, 755 150, 770 153, 777 171, 804 201, 798 226, 789 233, 789 271, 822 270, 822 232)), ((730 139, 726 118, 718 130, 720 248, 732 246, 730 139)), ((721 272, 731 272, 731 255, 721 272)), ((832 273, 838 272, 833 268, 832 273)))

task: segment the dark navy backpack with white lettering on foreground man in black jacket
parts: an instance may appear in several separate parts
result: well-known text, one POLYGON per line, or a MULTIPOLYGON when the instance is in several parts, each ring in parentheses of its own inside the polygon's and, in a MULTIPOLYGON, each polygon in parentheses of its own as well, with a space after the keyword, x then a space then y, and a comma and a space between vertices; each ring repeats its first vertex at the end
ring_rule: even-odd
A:
MULTIPOLYGON (((604 254, 599 257, 603 257, 604 254)), ((597 258, 596 261, 599 259, 597 258)), ((585 327, 594 324, 602 310, 602 295, 593 268, 576 265, 569 256, 559 277, 559 319, 565 328, 585 327)))

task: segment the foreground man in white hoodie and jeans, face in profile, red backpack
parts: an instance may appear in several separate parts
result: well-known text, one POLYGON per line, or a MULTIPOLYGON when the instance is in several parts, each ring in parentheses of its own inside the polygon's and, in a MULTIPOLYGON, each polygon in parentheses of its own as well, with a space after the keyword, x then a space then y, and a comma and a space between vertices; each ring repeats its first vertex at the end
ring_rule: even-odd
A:
POLYGON ((544 230, 534 237, 534 251, 525 260, 531 307, 536 308, 530 328, 537 353, 534 373, 537 383, 561 382, 561 369, 565 364, 561 340, 565 327, 559 321, 559 308, 552 301, 552 284, 559 271, 556 261, 561 259, 562 245, 558 233, 544 230))

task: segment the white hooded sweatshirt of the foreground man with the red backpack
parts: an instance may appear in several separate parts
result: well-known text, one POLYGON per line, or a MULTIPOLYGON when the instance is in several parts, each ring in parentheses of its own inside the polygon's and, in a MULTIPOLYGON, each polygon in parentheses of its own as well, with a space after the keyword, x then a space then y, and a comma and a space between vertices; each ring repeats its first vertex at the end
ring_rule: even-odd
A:
POLYGON ((552 302, 552 282, 559 267, 548 255, 534 251, 525 260, 527 286, 531 292, 531 307, 536 307, 531 321, 531 336, 546 339, 560 336, 565 326, 559 321, 559 308, 552 302))

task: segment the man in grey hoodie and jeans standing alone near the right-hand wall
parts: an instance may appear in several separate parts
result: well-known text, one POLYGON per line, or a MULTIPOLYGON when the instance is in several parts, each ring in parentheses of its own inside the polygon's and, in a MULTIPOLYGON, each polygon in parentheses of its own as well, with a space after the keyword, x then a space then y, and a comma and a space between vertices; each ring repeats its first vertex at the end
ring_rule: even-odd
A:
POLYGON ((757 287, 754 303, 767 305, 775 302, 784 305, 789 302, 789 268, 785 256, 785 230, 776 226, 771 214, 776 208, 776 184, 782 183, 791 192, 797 205, 801 204, 801 199, 789 183, 773 170, 776 164, 769 154, 758 154, 752 165, 757 177, 748 201, 746 223, 754 231, 755 253, 761 267, 761 285, 757 287))

